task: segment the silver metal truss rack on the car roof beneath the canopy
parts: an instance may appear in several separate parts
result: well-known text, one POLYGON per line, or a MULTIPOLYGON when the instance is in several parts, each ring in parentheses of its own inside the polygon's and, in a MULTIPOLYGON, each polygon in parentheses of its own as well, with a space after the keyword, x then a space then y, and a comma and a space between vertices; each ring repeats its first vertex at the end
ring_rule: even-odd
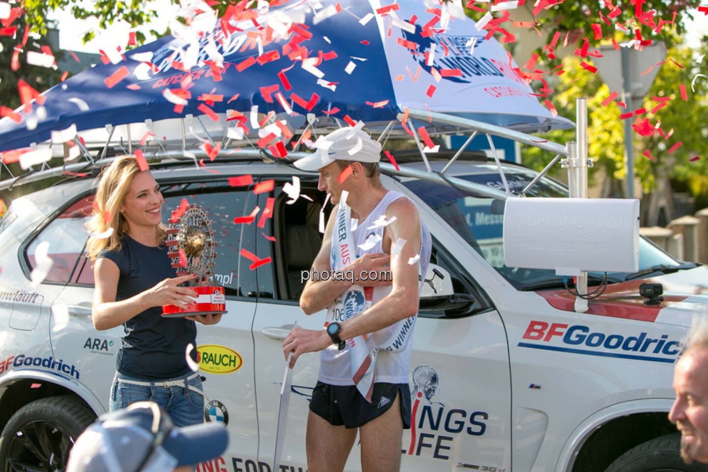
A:
MULTIPOLYGON (((491 139, 492 136, 512 139, 513 141, 527 144, 530 146, 535 146, 539 149, 550 151, 551 153, 556 154, 554 159, 549 162, 546 168, 544 168, 544 170, 539 173, 539 175, 537 175, 537 177, 532 180, 532 182, 527 185, 527 187, 522 192, 520 192, 520 195, 525 195, 525 192, 527 192, 527 190, 531 188, 532 185, 534 185, 539 180, 539 178, 541 178, 545 173, 547 173, 547 171, 557 161, 559 161, 559 159, 561 159, 561 156, 568 156, 569 154, 567 147, 561 144, 537 139, 531 134, 525 134, 523 132, 518 132, 513 129, 498 127, 496 125, 490 125, 484 122, 469 120, 467 118, 458 117, 455 115, 447 115, 445 113, 430 113, 427 110, 418 110, 411 108, 408 110, 408 126, 406 126, 406 123, 401 122, 402 117, 403 115, 401 114, 399 115, 398 121, 391 121, 385 127, 376 127, 369 130, 370 132, 372 132, 373 135, 378 135, 377 140, 379 142, 382 142, 382 144, 385 144, 385 142, 389 138, 410 139, 412 135, 413 139, 415 139, 416 144, 418 146, 417 156, 422 158, 423 162, 426 163, 427 171, 406 168, 406 166, 399 166, 399 171, 396 171, 394 166, 392 166, 391 164, 382 162, 380 164, 380 167, 384 173, 388 173, 391 175, 406 175, 409 177, 421 178, 423 180, 430 180, 433 182, 438 182, 447 185, 452 183, 454 185, 459 186, 459 188, 464 188, 465 190, 469 190, 471 192, 476 192, 481 195, 488 195, 489 197, 498 198, 501 200, 506 200, 507 197, 512 195, 512 192, 510 192, 508 188, 506 176, 504 175, 503 168, 501 167, 501 161, 498 158, 496 148, 491 139), (432 126, 433 131, 430 132, 430 135, 432 136, 445 133, 459 134, 460 132, 462 132, 469 133, 469 137, 460 149, 454 151, 442 150, 438 153, 431 153, 429 151, 426 152, 426 150, 423 148, 423 145, 421 144, 421 139, 418 137, 418 132, 416 132, 416 125, 414 125, 414 122, 419 122, 423 126, 432 126), (501 176, 501 180, 505 188, 505 191, 503 192, 500 190, 489 188, 486 185, 479 185, 469 182, 467 180, 444 175, 450 168, 452 163, 454 163, 458 159, 462 159, 463 161, 486 161, 487 157, 484 152, 466 151, 466 148, 472 142, 472 139, 474 139, 474 137, 478 136, 479 134, 484 134, 489 142, 493 155, 493 160, 496 162, 498 172, 501 176), (442 169, 442 171, 433 171, 433 169, 430 168, 428 158, 435 159, 435 161, 445 159, 447 160, 447 164, 442 169)), ((142 150, 145 156, 145 159, 149 161, 151 165, 173 166, 180 164, 183 165, 185 162, 192 162, 197 168, 200 168, 198 161, 200 159, 209 159, 209 155, 204 149, 200 147, 187 146, 187 138, 185 134, 185 120, 188 120, 188 122, 191 123, 193 119, 196 120, 198 125, 200 125, 200 129, 202 129, 202 131, 207 136, 207 139, 203 140, 204 142, 209 142, 211 146, 221 146, 220 151, 217 153, 219 163, 232 161, 249 161, 256 159, 262 159, 265 162, 280 161, 282 163, 292 163, 293 161, 309 154, 307 152, 298 151, 296 146, 295 151, 291 151, 286 158, 278 159, 277 157, 274 157, 269 154, 268 151, 265 151, 264 149, 260 149, 255 146, 253 142, 251 142, 251 140, 249 139, 248 135, 244 136, 244 139, 239 141, 240 144, 244 144, 248 147, 241 147, 237 151, 233 148, 229 149, 229 146, 232 144, 232 142, 234 142, 234 139, 229 136, 228 128, 221 129, 220 132, 222 132, 222 137, 217 137, 215 135, 214 130, 210 132, 207 127, 205 127, 205 125, 202 123, 202 120, 200 120, 200 117, 191 117, 188 115, 188 117, 179 119, 181 125, 181 142, 172 142, 169 143, 170 145, 166 146, 159 140, 156 140, 154 142, 155 144, 152 144, 153 146, 155 146, 154 151, 149 151, 148 142, 139 145, 140 149, 142 150), (179 146, 181 147, 181 149, 175 149, 175 144, 177 144, 178 146, 181 144, 181 146, 179 146)), ((271 118, 268 122, 266 122, 265 125, 273 123, 277 119, 278 116, 275 116, 271 118)), ((318 118, 314 117, 314 115, 307 116, 307 120, 305 120, 305 122, 303 123, 303 125, 305 125, 305 123, 307 123, 307 125, 305 125, 302 130, 296 129, 296 134, 302 135, 302 133, 306 132, 307 129, 311 129, 315 136, 317 134, 322 134, 322 132, 326 132, 326 129, 318 129, 315 126, 317 121, 318 118)), ((331 123, 335 123, 336 125, 341 127, 341 122, 339 122, 336 118, 334 118, 333 120, 324 120, 324 122, 326 122, 328 125, 331 125, 331 123)), ((152 120, 148 120, 145 125, 147 126, 147 129, 152 129, 152 120)), ((102 149, 95 149, 95 156, 91 154, 91 149, 81 145, 81 154, 80 156, 76 157, 76 162, 74 163, 64 163, 64 165, 62 166, 52 168, 45 162, 42 163, 42 165, 38 169, 35 169, 30 166, 30 170, 27 173, 18 176, 13 175, 10 169, 4 163, 1 163, 0 178, 1 175, 3 175, 5 172, 10 175, 10 178, 7 178, 6 180, 2 180, 0 182, 0 190, 7 190, 13 188, 13 186, 16 185, 23 185, 25 183, 35 182, 46 178, 55 178, 57 176, 66 176, 67 178, 81 178, 88 175, 95 175, 96 171, 113 161, 115 155, 132 154, 133 149, 137 148, 137 146, 135 145, 135 139, 132 139, 130 135, 130 125, 125 125, 125 129, 127 131, 127 143, 123 142, 122 137, 120 137, 120 141, 118 142, 113 139, 113 134, 116 129, 115 127, 113 127, 112 125, 106 125, 105 128, 108 132, 108 139, 106 140, 102 149), (127 144, 127 149, 125 149, 124 144, 127 144), (111 154, 115 154, 114 156, 107 156, 109 149, 111 149, 111 154)), ((198 137, 197 139, 200 138, 198 137)), ((200 139, 200 141, 202 141, 202 139, 200 139)), ((399 151, 396 151, 396 160, 400 160, 400 162, 404 164, 412 162, 412 156, 413 153, 408 153, 406 151, 404 151, 404 153, 401 153, 399 151)))

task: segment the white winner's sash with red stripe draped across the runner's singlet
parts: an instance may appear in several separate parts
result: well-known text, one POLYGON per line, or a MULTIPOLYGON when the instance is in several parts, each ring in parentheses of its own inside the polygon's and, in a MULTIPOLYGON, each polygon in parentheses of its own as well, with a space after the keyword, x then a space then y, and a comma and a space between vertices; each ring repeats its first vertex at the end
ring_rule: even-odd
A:
MULTIPOLYGON (((356 248, 354 245, 354 235, 351 229, 351 207, 346 205, 347 192, 342 192, 337 217, 332 231, 333 267, 335 271, 343 270, 356 258, 356 248)), ((341 297, 327 308, 327 318, 324 326, 333 322, 336 313, 341 313, 338 319, 347 320, 357 316, 371 306, 373 287, 361 287, 352 285, 346 289, 341 297)), ((376 353, 379 350, 389 352, 400 352, 406 349, 416 324, 416 316, 411 316, 398 321, 394 325, 394 330, 389 338, 380 345, 375 345, 369 335, 355 336, 346 340, 346 349, 350 356, 351 377, 358 391, 371 403, 371 395, 374 390, 374 367, 376 364, 376 353)))

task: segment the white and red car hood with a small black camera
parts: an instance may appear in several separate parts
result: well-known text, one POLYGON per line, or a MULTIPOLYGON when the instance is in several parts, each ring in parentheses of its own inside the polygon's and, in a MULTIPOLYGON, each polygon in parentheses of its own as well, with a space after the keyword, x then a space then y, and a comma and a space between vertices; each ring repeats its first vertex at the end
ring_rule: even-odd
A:
MULTIPOLYGON (((575 297, 565 289, 539 290, 536 294, 556 309, 574 311, 575 297)), ((608 284, 598 299, 588 302, 586 313, 691 326, 693 316, 708 314, 708 268, 699 266, 658 277, 608 284), (639 285, 645 282, 663 285, 661 304, 644 304, 646 299, 639 295, 639 285)))

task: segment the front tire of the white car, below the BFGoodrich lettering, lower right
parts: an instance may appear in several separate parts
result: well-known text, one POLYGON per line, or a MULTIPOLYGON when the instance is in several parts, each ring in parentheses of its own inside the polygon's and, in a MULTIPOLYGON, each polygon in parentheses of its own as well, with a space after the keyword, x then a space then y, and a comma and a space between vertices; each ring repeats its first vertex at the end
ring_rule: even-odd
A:
POLYGON ((686 464, 680 454, 681 434, 666 434, 639 446, 615 459, 605 472, 707 472, 708 465, 686 464))

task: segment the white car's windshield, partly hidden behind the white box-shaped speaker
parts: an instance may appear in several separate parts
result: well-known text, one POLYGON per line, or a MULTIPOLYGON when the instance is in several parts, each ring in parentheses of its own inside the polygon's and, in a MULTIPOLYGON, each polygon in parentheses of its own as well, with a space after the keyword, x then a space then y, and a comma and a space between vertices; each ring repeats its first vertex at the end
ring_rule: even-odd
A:
MULTIPOLYGON (((496 166, 475 165, 479 172, 469 175, 455 175, 457 178, 469 180, 474 183, 488 185, 497 190, 504 190, 503 183, 496 166)), ((526 168, 505 168, 509 189, 520 191, 531 182, 536 173, 526 168)), ((554 270, 526 269, 520 267, 507 267, 504 264, 504 250, 502 241, 503 205, 497 201, 493 205, 493 198, 484 195, 464 195, 459 190, 440 183, 428 180, 408 180, 403 183, 412 192, 418 195, 435 210, 452 229, 462 236, 469 246, 472 246, 486 261, 496 269, 506 280, 517 289, 523 289, 539 284, 543 288, 544 280, 557 279, 554 270)), ((550 178, 541 178, 526 193, 529 197, 567 197, 568 190, 550 178)), ((668 265, 678 266, 679 263, 660 248, 654 246, 643 237, 639 238, 639 270, 649 267, 668 265)), ((603 277, 603 272, 590 272, 596 279, 603 277)), ((610 282, 625 280, 629 275, 626 272, 608 272, 610 282)), ((648 275, 648 274, 647 274, 648 275)))

